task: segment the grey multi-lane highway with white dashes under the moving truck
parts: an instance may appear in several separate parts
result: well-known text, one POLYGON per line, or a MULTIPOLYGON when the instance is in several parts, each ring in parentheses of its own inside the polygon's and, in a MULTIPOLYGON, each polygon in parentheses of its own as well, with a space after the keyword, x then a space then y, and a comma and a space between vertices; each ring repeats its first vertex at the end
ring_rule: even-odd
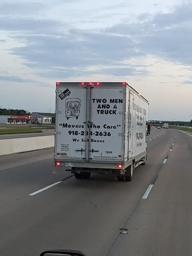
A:
POLYGON ((191 157, 192 134, 169 129, 147 136, 132 182, 76 180, 53 166, 53 148, 0 157, 0 254, 191 255, 191 157))

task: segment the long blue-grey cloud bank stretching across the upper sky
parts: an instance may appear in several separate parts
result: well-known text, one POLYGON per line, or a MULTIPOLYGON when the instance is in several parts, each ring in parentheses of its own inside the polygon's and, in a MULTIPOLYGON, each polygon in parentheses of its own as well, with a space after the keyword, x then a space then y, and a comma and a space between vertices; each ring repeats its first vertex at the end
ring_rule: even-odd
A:
POLYGON ((140 14, 132 24, 124 21, 95 30, 72 29, 63 20, 51 18, 2 16, 0 23, 1 30, 10 31, 12 38, 25 44, 12 48, 11 52, 26 60, 25 65, 32 67, 37 75, 82 76, 88 74, 88 67, 104 65, 108 68, 89 70, 89 74, 146 75, 147 67, 130 64, 126 68, 122 62, 151 54, 191 65, 190 10, 192 3, 153 17, 150 13, 140 14))

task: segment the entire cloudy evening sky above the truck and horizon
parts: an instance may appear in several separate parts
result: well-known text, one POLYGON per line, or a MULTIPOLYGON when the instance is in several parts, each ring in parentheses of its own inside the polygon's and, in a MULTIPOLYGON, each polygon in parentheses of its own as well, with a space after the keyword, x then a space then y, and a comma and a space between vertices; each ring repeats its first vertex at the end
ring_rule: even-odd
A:
POLYGON ((1 0, 0 108, 54 112, 56 81, 126 81, 150 119, 192 114, 192 1, 1 0))

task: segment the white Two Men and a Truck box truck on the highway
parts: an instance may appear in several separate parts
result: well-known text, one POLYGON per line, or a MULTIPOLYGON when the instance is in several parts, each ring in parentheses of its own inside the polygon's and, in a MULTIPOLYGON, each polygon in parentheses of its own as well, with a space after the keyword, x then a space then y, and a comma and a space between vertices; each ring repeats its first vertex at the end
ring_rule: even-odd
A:
POLYGON ((55 113, 55 166, 76 179, 145 164, 148 101, 126 82, 57 82, 55 113))

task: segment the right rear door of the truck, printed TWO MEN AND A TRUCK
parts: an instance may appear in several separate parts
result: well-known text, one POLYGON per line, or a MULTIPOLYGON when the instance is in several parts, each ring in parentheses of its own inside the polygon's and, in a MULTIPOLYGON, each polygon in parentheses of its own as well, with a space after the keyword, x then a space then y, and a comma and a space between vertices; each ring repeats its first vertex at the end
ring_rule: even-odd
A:
POLYGON ((124 87, 91 88, 89 159, 123 159, 124 87))

